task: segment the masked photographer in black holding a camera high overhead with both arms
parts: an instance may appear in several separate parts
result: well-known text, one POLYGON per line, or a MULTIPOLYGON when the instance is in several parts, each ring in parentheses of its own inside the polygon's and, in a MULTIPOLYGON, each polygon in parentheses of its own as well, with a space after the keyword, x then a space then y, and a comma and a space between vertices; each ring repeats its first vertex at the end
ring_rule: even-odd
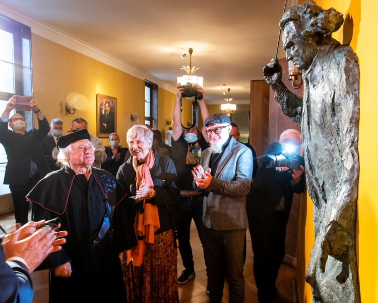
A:
MULTIPOLYGON (((205 92, 202 87, 197 86, 197 88, 203 93, 203 99, 198 101, 198 105, 201 109, 202 119, 205 121, 209 117, 205 103, 205 92)), ((190 243, 190 229, 193 219, 201 239, 204 194, 199 194, 193 188, 192 169, 200 163, 203 151, 209 147, 208 136, 205 132, 206 127, 202 130, 202 136, 200 136, 196 126, 184 129, 181 127, 180 100, 182 92, 183 88, 180 84, 177 84, 171 140, 172 160, 176 166, 178 177, 176 184, 181 190, 180 200, 178 201, 178 248, 185 268, 177 279, 178 284, 185 284, 196 276, 190 243)))

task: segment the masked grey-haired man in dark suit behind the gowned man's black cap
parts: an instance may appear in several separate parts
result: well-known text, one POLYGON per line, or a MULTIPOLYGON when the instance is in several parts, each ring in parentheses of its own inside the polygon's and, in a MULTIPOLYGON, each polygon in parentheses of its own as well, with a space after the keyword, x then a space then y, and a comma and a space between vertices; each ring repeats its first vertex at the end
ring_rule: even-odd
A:
POLYGON ((51 171, 58 170, 60 168, 60 164, 52 158, 52 150, 56 147, 56 142, 58 138, 63 133, 63 121, 60 119, 52 119, 50 124, 51 134, 48 134, 41 143, 41 148, 43 155, 45 156, 48 166, 50 167, 51 171))

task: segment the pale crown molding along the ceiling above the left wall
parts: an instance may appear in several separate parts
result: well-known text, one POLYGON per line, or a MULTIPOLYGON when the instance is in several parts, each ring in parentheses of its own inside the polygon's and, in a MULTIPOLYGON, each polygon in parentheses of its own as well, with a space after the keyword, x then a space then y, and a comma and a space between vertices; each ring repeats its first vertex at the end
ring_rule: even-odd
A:
POLYGON ((0 4, 0 14, 3 14, 9 18, 12 18, 18 22, 21 22, 31 28, 33 34, 41 36, 47 40, 65 46, 72 49, 75 52, 78 52, 82 55, 85 55, 89 58, 102 62, 108 66, 111 66, 117 70, 120 70, 124 73, 132 75, 138 79, 149 80, 157 85, 160 88, 168 90, 172 93, 176 93, 176 87, 172 86, 169 83, 159 80, 158 78, 147 74, 146 72, 132 66, 131 64, 124 62, 110 54, 107 54, 101 49, 80 40, 73 35, 70 35, 42 20, 31 17, 27 14, 21 13, 15 9, 12 9, 6 5, 0 4))

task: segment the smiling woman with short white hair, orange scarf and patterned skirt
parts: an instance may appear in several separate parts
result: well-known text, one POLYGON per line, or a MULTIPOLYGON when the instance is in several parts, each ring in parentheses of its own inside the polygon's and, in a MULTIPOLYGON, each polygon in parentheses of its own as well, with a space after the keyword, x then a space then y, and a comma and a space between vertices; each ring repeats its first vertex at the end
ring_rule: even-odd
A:
POLYGON ((121 256, 128 301, 178 302, 176 201, 179 197, 172 160, 152 149, 153 133, 135 125, 127 133, 131 157, 117 179, 135 199, 138 246, 121 256), (129 258, 127 258, 129 257, 129 258))

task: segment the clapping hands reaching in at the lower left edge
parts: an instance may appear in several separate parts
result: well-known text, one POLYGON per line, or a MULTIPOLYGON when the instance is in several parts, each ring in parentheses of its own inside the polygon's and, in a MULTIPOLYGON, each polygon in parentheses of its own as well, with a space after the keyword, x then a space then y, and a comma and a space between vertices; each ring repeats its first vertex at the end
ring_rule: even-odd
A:
POLYGON ((20 233, 21 228, 9 234, 7 240, 3 241, 4 256, 5 259, 11 257, 22 258, 31 273, 53 250, 53 242, 56 239, 56 235, 51 227, 40 228, 23 240, 18 240, 20 233))

